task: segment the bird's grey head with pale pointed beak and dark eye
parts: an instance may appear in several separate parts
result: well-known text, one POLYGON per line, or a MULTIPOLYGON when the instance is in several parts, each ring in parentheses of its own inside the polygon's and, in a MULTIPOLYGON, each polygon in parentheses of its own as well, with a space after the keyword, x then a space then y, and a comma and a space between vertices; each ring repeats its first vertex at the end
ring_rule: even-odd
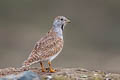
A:
POLYGON ((69 19, 64 16, 57 16, 53 22, 53 26, 55 28, 61 28, 63 30, 67 23, 70 23, 69 19))

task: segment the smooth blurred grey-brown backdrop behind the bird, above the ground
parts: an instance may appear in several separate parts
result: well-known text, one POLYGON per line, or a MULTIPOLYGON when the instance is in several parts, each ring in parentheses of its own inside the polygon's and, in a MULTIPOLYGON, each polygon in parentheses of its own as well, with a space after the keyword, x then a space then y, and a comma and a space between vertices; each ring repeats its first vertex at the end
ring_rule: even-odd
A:
POLYGON ((0 0, 0 68, 20 67, 58 15, 72 23, 54 67, 120 72, 120 0, 0 0))

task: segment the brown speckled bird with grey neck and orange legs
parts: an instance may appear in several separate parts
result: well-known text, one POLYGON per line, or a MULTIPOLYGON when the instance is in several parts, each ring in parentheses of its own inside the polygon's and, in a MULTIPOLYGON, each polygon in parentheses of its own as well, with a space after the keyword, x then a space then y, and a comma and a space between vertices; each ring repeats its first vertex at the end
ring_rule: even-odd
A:
POLYGON ((64 16, 55 17, 49 32, 36 42, 29 57, 23 62, 22 67, 29 67, 34 63, 40 63, 42 72, 45 72, 43 62, 48 61, 49 72, 56 72, 56 70, 52 68, 51 61, 55 59, 63 49, 63 30, 67 23, 70 23, 68 18, 64 16))

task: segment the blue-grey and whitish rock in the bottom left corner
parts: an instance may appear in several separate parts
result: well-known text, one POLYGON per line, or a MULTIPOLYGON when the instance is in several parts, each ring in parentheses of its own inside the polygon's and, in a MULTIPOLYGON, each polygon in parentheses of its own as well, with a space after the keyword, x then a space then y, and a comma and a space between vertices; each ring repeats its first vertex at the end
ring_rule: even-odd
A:
POLYGON ((32 71, 24 71, 17 75, 8 75, 0 80, 40 80, 40 77, 32 71))

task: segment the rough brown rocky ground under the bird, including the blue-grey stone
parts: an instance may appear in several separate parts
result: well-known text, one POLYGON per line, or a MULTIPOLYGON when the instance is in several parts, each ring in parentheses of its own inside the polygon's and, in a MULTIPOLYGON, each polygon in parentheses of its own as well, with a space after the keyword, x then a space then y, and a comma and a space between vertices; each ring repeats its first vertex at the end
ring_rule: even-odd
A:
POLYGON ((0 69, 0 80, 120 80, 120 74, 91 71, 83 68, 56 68, 55 73, 41 72, 40 68, 0 69), (25 78, 27 75, 27 78, 25 78), (13 79, 16 78, 16 79, 13 79), (24 79, 23 79, 24 77, 24 79), (34 79, 34 78, 35 79, 34 79), (9 79, 10 78, 10 79, 9 79))

